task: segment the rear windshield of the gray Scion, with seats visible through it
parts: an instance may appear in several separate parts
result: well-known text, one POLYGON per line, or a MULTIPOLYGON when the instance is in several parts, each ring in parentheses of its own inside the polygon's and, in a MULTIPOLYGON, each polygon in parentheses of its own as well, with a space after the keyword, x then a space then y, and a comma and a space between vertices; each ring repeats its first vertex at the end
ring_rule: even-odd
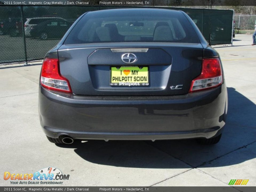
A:
POLYGON ((181 12, 123 9, 85 14, 64 44, 100 42, 199 43, 199 40, 181 12))

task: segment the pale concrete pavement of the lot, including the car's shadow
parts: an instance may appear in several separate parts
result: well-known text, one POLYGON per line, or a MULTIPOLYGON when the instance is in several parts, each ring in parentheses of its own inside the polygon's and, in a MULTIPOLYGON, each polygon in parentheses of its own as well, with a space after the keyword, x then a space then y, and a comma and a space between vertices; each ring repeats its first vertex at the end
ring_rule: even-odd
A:
MULTIPOLYGON (((54 145, 39 124, 41 65, 0 66, 0 174, 57 167, 70 175, 62 186, 228 186, 230 179, 249 179, 247 186, 256 186, 256 46, 251 41, 251 35, 237 34, 234 46, 214 46, 229 97, 226 127, 214 146, 194 140, 54 145)), ((0 177, 0 186, 11 186, 10 180, 0 177)))

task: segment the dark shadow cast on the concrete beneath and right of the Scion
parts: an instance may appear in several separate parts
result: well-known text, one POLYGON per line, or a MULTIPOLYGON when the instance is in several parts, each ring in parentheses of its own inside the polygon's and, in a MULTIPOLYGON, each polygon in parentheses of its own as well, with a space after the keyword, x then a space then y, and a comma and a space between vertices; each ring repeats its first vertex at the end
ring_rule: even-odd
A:
POLYGON ((207 164, 221 167, 256 158, 255 153, 242 155, 241 150, 256 141, 256 105, 237 92, 228 90, 228 117, 221 141, 216 145, 199 145, 195 139, 172 141, 76 141, 73 148, 86 161, 101 165, 140 168, 187 168, 207 164), (211 163, 229 153, 229 161, 211 163))

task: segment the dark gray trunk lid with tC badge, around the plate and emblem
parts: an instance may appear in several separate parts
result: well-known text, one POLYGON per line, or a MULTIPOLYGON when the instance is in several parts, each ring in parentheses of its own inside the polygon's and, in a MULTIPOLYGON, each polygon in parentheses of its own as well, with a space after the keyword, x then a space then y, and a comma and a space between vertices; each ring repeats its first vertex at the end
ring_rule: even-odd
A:
POLYGON ((60 72, 77 95, 180 95, 189 92, 201 73, 203 47, 200 43, 71 44, 62 45, 58 56, 60 72), (136 55, 137 61, 123 62, 127 53, 136 55), (148 67, 149 85, 111 86, 111 66, 148 67))

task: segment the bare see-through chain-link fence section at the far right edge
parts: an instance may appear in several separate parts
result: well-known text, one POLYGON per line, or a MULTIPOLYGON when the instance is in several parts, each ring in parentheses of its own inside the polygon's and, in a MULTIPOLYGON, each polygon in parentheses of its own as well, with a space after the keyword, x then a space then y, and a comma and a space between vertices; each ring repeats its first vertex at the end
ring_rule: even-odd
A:
POLYGON ((234 27, 239 30, 254 30, 256 15, 234 15, 234 27))

